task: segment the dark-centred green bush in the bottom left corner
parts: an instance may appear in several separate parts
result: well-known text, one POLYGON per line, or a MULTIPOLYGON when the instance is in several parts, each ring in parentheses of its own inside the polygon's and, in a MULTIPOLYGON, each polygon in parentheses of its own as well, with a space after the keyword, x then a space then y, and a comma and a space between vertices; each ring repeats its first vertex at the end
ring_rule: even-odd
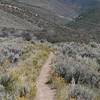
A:
POLYGON ((14 95, 11 96, 15 87, 15 80, 9 74, 0 75, 0 100, 14 100, 14 95))

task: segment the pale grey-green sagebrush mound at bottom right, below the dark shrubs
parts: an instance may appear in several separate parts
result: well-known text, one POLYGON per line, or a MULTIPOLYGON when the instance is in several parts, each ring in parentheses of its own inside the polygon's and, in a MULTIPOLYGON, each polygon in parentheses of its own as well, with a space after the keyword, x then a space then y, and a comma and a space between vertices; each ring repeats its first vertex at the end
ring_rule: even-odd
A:
POLYGON ((91 89, 81 85, 75 85, 69 88, 69 96, 77 100, 94 100, 97 96, 91 89))

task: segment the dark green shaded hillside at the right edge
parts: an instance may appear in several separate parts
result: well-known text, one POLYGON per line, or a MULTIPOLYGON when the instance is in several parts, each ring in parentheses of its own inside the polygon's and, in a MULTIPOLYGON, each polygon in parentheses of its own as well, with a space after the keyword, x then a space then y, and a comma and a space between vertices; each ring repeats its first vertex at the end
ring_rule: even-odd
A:
POLYGON ((100 38, 100 7, 88 9, 81 13, 74 21, 67 24, 80 32, 86 32, 88 37, 99 41, 100 38))

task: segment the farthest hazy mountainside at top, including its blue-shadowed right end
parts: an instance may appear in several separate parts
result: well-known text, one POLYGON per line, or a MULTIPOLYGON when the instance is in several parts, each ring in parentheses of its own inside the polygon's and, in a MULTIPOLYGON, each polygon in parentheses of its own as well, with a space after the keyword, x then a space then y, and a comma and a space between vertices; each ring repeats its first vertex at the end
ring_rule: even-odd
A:
POLYGON ((61 16, 74 17, 80 8, 93 7, 98 4, 98 0, 18 0, 30 5, 51 9, 61 16))

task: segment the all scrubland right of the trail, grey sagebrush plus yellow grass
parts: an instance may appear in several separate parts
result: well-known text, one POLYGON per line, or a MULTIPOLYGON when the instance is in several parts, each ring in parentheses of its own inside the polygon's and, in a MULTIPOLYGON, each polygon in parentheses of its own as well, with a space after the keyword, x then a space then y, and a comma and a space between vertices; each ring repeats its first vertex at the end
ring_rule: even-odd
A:
POLYGON ((57 100, 100 99, 100 44, 60 43, 49 78, 57 100))

